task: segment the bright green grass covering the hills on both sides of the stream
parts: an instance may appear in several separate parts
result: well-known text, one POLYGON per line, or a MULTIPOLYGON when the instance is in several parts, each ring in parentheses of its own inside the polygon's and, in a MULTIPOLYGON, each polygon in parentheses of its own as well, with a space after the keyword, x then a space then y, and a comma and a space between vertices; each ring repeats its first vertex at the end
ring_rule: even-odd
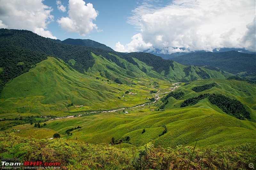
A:
MULTIPOLYGON (((126 69, 120 68, 104 57, 94 54, 92 56, 95 59, 95 65, 85 74, 76 72, 62 60, 48 58, 38 63, 29 72, 9 81, 0 95, 0 118, 28 115, 65 116, 91 111, 113 110, 119 107, 127 108, 148 102, 146 98, 154 96, 154 93, 150 93, 151 90, 164 93, 169 92, 170 87, 173 87, 170 81, 147 76, 150 72, 157 74, 150 70, 150 67, 143 65, 142 62, 138 62, 139 66, 147 69, 147 75, 117 57, 127 69, 134 71, 134 75, 131 76, 126 74, 126 69), (106 76, 105 71, 111 75, 109 79, 104 77, 106 76), (111 81, 111 77, 119 77, 124 83, 116 84, 111 81), (159 86, 157 89, 152 88, 155 82, 159 86), (127 90, 133 95, 124 95, 127 90), (67 107, 71 103, 83 106, 67 107)), ((182 69, 181 65, 176 64, 174 66, 175 69, 182 69)), ((190 75, 196 76, 196 69, 198 68, 192 67, 193 71, 190 72, 190 75)), ((207 70, 205 71, 207 72, 207 70)), ((161 78, 160 74, 158 76, 161 78)), ((179 76, 182 77, 182 73, 179 76)), ((158 101, 143 107, 125 109, 129 112, 128 114, 124 114, 122 110, 91 113, 83 117, 50 120, 41 129, 35 128, 34 125, 24 124, 13 126, 6 129, 5 132, 11 133, 15 131, 12 129, 16 129, 16 131, 20 129, 20 133, 17 135, 35 138, 49 138, 57 132, 62 138, 68 140, 77 139, 94 144, 109 144, 112 137, 119 139, 129 135, 131 137, 130 142, 136 147, 149 142, 164 148, 175 147, 180 144, 192 146, 195 145, 196 140, 198 140, 197 143, 200 147, 241 145, 245 141, 253 142, 256 139, 256 124, 253 122, 256 120, 254 110, 256 107, 255 86, 255 84, 242 81, 224 79, 192 81, 177 89, 177 91, 183 91, 185 96, 179 100, 170 97, 169 103, 164 108, 165 111, 150 111, 152 108, 157 109, 162 104, 161 101, 158 101), (192 90, 195 86, 213 82, 216 83, 216 86, 211 89, 200 93, 192 90), (185 99, 203 93, 217 93, 238 99, 250 111, 251 122, 238 120, 225 114, 207 99, 201 100, 193 106, 180 108, 181 102, 185 99), (164 130, 162 125, 168 129, 164 135, 161 135, 164 130), (67 129, 77 126, 82 128, 73 130, 71 136, 65 134, 67 129), (142 134, 144 128, 145 133, 142 134)), ((164 95, 159 96, 163 97, 164 95)), ((0 126, 4 126, 5 123, 8 121, 1 121, 0 126)))

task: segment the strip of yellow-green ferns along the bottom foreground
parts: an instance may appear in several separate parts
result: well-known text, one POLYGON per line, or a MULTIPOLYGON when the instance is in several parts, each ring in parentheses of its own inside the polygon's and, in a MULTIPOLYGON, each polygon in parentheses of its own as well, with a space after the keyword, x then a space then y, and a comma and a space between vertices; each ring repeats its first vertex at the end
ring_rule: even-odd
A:
POLYGON ((204 149, 182 145, 164 149, 153 143, 137 149, 115 146, 0 133, 1 158, 15 150, 22 153, 20 162, 60 162, 62 169, 246 169, 256 162, 255 143, 204 149))

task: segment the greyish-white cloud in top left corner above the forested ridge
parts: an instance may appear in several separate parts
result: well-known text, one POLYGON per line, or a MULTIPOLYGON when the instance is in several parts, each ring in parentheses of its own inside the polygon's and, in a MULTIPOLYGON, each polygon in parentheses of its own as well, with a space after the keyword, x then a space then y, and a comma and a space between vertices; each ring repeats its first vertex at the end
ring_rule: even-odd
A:
POLYGON ((47 25, 53 21, 51 7, 42 0, 0 0, 0 27, 27 29, 44 37, 57 39, 47 25))

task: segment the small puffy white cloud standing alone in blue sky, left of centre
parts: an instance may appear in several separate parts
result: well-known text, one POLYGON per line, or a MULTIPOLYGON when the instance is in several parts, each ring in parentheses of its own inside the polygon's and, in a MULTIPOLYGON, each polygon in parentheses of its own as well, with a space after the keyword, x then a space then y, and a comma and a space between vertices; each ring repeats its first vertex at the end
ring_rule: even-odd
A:
POLYGON ((68 8, 68 17, 57 20, 62 29, 79 33, 82 36, 90 33, 93 29, 98 29, 92 22, 98 16, 98 12, 91 3, 85 4, 83 0, 69 0, 68 8))

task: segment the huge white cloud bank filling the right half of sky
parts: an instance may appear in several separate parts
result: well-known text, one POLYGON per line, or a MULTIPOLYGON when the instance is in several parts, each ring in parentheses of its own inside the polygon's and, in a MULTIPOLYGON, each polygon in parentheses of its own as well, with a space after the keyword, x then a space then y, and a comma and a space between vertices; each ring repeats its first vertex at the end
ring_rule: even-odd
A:
POLYGON ((253 50, 254 46, 255 51, 255 1, 173 0, 152 8, 144 1, 132 11, 128 23, 140 27, 140 33, 123 45, 124 51, 147 50, 149 44, 169 54, 219 47, 253 50))

